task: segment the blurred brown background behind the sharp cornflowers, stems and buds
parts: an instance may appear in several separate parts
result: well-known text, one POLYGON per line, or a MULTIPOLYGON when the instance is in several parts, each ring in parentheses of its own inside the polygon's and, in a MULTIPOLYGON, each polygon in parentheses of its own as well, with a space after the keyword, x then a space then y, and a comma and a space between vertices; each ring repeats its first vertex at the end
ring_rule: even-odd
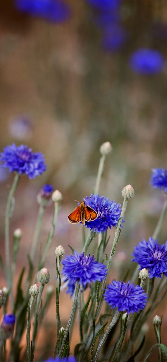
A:
MULTIPOLYGON (((68 254, 67 244, 82 250, 82 227, 68 223, 67 216, 76 207, 74 199, 81 200, 93 191, 99 148, 105 141, 112 144, 113 152, 107 157, 100 195, 122 203, 122 188, 131 184, 135 190, 110 277, 120 278, 120 268, 135 268, 130 254, 143 237, 148 240, 153 234, 164 200, 160 191, 151 188, 150 176, 151 168, 166 168, 166 58, 165 0, 6 0, 1 4, 0 148, 3 151, 13 142, 27 144, 34 152, 41 151, 47 164, 47 171, 35 180, 22 177, 16 192, 11 233, 18 227, 23 231, 17 273, 28 265, 38 212, 36 197, 44 184, 52 184, 63 195, 46 261, 54 287, 55 247, 63 245, 68 254)), ((13 175, 0 168, 2 253, 12 180, 13 175)), ((52 213, 50 205, 41 232, 43 244, 52 213)), ((160 243, 167 239, 165 225, 160 243)), ((112 240, 114 231, 108 234, 112 240)), ((65 292, 61 298, 66 325, 72 301, 65 292)), ((163 314, 163 331, 167 327, 164 305, 155 311, 163 314)), ((55 297, 40 332, 35 360, 46 348, 53 354, 54 314, 55 297), (47 336, 46 329, 51 331, 47 336)), ((72 348, 77 342, 76 330, 72 348)), ((145 352, 154 343, 150 326, 145 352)), ((157 360, 156 352, 151 358, 157 360)))

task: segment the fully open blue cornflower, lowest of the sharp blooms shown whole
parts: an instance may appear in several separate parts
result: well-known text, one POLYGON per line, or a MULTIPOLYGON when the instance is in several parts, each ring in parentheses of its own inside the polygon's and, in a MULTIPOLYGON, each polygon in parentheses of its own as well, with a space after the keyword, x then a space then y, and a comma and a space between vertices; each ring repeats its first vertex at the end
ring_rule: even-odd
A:
POLYGON ((125 282, 113 281, 107 285, 104 299, 111 308, 118 308, 119 312, 126 311, 128 314, 144 309, 147 303, 147 295, 139 285, 135 286, 125 282))

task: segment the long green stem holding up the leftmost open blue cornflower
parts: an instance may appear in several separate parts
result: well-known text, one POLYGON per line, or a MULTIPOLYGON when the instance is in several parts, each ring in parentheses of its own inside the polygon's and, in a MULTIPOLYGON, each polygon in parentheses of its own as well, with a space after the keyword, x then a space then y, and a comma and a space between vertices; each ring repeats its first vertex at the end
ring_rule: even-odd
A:
POLYGON ((10 246, 9 246, 9 219, 11 217, 11 206, 14 197, 14 193, 17 189, 18 181, 20 175, 18 173, 15 174, 13 185, 11 190, 9 191, 8 201, 7 201, 7 208, 5 214, 5 260, 6 260, 6 267, 7 267, 7 283, 9 288, 11 289, 11 265, 10 265, 10 246))

